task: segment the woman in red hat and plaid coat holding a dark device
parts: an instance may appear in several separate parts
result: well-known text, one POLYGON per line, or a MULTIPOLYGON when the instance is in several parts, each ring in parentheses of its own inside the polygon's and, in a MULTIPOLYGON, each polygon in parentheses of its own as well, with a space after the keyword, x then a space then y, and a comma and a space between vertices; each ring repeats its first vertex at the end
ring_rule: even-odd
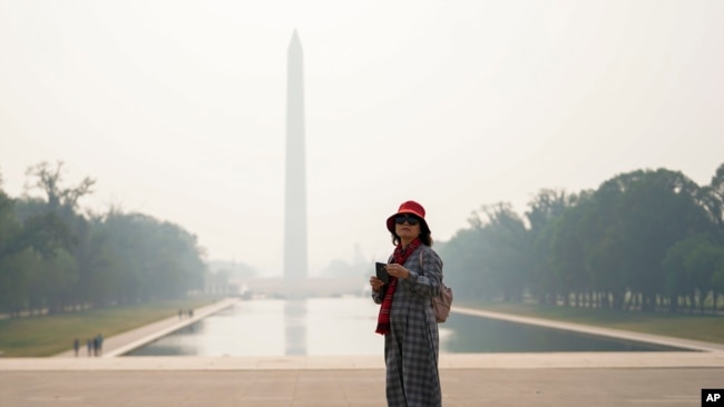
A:
POLYGON ((440 339, 431 301, 440 291, 442 260, 430 248, 420 204, 403 202, 388 218, 388 230, 397 246, 385 267, 390 281, 370 278, 372 299, 381 304, 376 332, 384 335, 388 406, 439 407, 440 339))

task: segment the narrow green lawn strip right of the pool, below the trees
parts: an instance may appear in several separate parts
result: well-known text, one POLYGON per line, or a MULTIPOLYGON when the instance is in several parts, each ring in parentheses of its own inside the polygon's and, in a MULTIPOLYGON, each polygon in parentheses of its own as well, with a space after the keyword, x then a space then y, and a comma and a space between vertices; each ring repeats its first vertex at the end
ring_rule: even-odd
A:
MULTIPOLYGON (((612 309, 539 306, 532 304, 460 302, 493 312, 595 325, 636 332, 724 344, 724 316, 637 312, 612 309)), ((453 305, 454 307, 454 305, 453 305)))

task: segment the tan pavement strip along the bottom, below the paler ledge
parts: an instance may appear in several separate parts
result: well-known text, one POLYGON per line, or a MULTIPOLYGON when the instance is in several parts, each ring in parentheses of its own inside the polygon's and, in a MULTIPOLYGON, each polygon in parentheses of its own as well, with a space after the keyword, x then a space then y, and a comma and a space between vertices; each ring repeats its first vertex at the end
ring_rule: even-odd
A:
MULTIPOLYGON (((723 368, 441 369, 443 406, 699 406, 723 368)), ((384 406, 382 369, 0 370, 1 406, 384 406)))

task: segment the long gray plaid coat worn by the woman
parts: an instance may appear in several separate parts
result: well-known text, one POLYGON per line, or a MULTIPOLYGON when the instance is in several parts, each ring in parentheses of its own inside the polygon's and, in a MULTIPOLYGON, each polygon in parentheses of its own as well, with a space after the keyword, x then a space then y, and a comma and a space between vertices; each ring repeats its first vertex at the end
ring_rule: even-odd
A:
MULTIPOLYGON (((440 337, 431 301, 440 291, 442 260, 430 247, 420 245, 403 266, 410 277, 398 280, 390 334, 384 336, 388 406, 440 407, 440 337)), ((382 298, 382 291, 372 291, 374 302, 381 304, 382 298)))

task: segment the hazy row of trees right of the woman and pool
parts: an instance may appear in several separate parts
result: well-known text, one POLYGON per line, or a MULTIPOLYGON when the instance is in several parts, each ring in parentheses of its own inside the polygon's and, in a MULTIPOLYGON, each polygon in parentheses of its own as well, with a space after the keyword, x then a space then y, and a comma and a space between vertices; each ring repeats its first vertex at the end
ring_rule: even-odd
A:
POLYGON ((524 216, 482 206, 438 249, 461 299, 671 312, 724 295, 724 165, 698 186, 635 170, 596 190, 540 190, 524 216))

